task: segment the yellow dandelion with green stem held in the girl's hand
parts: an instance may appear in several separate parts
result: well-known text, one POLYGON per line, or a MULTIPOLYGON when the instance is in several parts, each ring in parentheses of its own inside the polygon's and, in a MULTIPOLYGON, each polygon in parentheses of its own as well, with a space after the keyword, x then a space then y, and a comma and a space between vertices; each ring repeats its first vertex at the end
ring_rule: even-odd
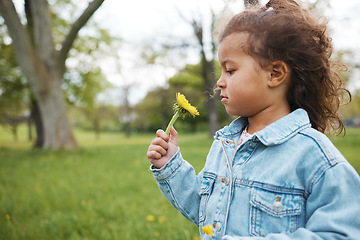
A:
POLYGON ((189 101, 185 98, 185 96, 181 93, 176 93, 176 103, 174 104, 174 116, 171 118, 169 125, 166 128, 166 134, 169 135, 171 127, 174 125, 175 121, 181 115, 185 116, 186 113, 189 113, 193 117, 200 115, 196 107, 191 106, 189 101))

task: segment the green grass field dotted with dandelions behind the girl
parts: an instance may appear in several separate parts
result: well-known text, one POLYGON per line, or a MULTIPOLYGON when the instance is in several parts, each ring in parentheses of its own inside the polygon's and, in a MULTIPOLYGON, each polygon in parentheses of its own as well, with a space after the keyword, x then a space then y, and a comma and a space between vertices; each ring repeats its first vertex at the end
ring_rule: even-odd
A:
MULTIPOLYGON (((153 135, 126 139, 77 132, 72 151, 30 150, 0 129, 0 239, 198 239, 198 229, 162 197, 146 159, 153 135)), ((197 171, 211 139, 182 134, 197 171)), ((334 140, 360 172, 360 129, 334 140)))

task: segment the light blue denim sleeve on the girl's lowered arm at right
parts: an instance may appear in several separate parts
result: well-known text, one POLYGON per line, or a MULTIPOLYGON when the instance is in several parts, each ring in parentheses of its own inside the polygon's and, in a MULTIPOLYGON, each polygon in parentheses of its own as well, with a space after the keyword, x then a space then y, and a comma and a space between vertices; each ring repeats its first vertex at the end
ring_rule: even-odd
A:
POLYGON ((347 162, 330 167, 312 185, 306 225, 293 233, 265 237, 224 236, 222 240, 360 239, 360 179, 347 162))

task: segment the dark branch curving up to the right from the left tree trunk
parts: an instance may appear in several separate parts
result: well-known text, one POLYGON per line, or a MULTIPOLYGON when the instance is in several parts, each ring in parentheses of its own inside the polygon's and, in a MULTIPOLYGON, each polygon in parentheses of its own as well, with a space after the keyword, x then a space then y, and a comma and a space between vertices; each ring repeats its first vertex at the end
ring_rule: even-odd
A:
POLYGON ((83 14, 72 25, 68 35, 66 36, 62 44, 57 58, 57 63, 59 65, 59 74, 62 75, 65 72, 66 58, 80 29, 88 22, 90 17, 95 13, 95 11, 101 6, 103 2, 104 0, 93 0, 92 2, 90 2, 83 14))

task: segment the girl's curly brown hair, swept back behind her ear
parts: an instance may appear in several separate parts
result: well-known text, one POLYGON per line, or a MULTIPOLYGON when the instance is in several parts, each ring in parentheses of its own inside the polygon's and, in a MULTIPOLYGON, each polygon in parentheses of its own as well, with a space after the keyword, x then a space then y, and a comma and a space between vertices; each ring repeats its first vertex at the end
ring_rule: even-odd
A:
MULTIPOLYGON (((291 111, 307 111, 312 127, 327 127, 341 133, 345 127, 338 115, 341 99, 351 100, 338 66, 330 60, 333 52, 325 18, 317 18, 293 0, 270 0, 235 15, 220 41, 232 33, 249 34, 244 51, 265 68, 273 61, 285 62, 291 70, 288 102, 291 111)), ((349 101, 350 101, 349 100, 349 101)))

